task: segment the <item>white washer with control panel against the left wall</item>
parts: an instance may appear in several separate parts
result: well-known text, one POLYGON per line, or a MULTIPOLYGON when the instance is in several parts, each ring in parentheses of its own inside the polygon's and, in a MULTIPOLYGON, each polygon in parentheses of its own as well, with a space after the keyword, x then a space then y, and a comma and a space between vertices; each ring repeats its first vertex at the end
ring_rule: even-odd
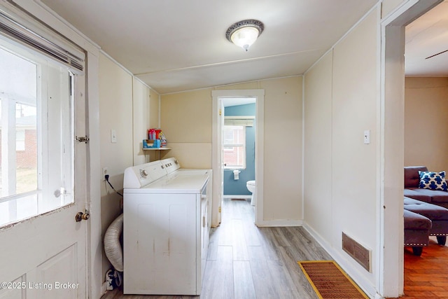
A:
POLYGON ((128 167, 123 187, 123 293, 200 295, 211 169, 180 169, 169 158, 128 167))

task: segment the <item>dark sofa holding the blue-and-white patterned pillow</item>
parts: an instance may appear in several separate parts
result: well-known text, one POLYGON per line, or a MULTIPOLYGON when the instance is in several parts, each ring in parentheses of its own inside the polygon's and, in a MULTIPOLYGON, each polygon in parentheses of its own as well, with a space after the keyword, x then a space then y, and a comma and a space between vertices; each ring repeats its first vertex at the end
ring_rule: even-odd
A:
POLYGON ((405 197, 414 198, 414 200, 429 202, 431 204, 437 204, 437 206, 448 208, 447 191, 419 188, 419 171, 427 172, 428 168, 426 166, 405 167, 405 197))

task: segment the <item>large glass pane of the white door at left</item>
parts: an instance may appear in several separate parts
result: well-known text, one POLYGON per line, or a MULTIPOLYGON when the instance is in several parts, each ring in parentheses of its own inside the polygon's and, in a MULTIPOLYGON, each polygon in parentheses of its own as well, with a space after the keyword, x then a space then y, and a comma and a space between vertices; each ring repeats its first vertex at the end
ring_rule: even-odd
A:
POLYGON ((0 225, 6 225, 72 201, 63 183, 71 181, 71 170, 62 175, 64 165, 72 163, 71 149, 64 146, 71 143, 71 133, 62 132, 71 130, 72 118, 69 83, 62 80, 70 78, 68 71, 4 41, 0 46, 0 225), (59 102, 62 88, 68 100, 59 102), (48 97, 53 92, 57 97, 48 97), (49 101, 59 103, 48 109, 49 101), (52 163, 49 149, 60 152, 52 163), (44 193, 59 196, 55 200, 56 195, 44 193))

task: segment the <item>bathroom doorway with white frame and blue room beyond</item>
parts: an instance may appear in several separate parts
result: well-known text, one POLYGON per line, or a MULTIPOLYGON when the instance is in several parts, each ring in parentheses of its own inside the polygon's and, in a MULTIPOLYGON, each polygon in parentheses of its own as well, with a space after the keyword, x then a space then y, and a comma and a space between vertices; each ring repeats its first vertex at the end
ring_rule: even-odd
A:
POLYGON ((246 187, 247 181, 257 182, 255 224, 262 221, 264 93, 264 90, 212 92, 214 110, 212 226, 221 223, 221 209, 225 197, 251 200, 251 193, 246 187))

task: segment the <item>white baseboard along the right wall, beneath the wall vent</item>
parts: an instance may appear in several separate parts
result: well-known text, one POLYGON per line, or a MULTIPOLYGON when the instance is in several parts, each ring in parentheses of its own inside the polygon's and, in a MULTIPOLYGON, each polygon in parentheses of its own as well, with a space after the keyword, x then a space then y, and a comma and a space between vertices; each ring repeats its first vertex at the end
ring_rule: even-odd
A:
POLYGON ((356 263, 356 260, 353 260, 353 262, 355 263, 350 263, 349 260, 347 260, 347 258, 351 258, 348 254, 346 254, 345 252, 339 252, 335 250, 334 247, 330 246, 330 244, 328 244, 328 242, 325 239, 323 239, 321 235, 319 235, 306 222, 304 222, 302 226, 305 230, 307 230, 307 232, 309 232, 309 235, 311 235, 311 237, 314 237, 314 239, 316 239, 318 244, 320 244, 323 247, 323 249, 325 249, 325 251, 327 251, 330 254, 330 256, 336 261, 336 263, 338 263, 339 266, 341 266, 342 269, 347 274, 349 274, 351 279, 353 279, 353 281, 355 281, 356 284, 358 284, 358 286, 362 288, 363 291, 365 291, 365 293, 370 298, 381 298, 378 297, 377 290, 374 284, 372 284, 372 282, 369 281, 367 277, 365 277, 360 273, 360 271, 365 271, 365 269, 360 265, 358 265, 358 263, 356 263))

